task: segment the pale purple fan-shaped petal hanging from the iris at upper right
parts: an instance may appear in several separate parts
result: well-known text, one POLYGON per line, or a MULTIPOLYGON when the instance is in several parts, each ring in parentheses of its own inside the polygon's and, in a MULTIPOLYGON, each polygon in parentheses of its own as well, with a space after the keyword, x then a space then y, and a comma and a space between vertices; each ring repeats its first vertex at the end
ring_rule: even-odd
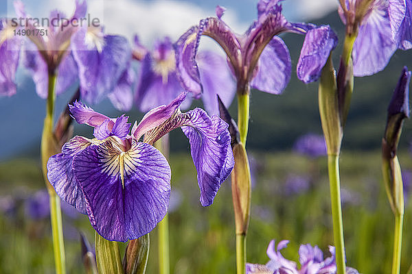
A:
POLYGON ((371 10, 367 20, 359 27, 354 43, 354 75, 373 75, 382 71, 397 47, 392 39, 387 9, 371 10))

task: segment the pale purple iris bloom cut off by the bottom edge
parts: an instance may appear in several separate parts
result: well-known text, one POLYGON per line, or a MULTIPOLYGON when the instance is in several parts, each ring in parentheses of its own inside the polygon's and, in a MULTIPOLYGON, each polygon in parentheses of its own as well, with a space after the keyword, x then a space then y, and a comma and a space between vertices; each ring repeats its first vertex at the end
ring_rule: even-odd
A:
MULTIPOLYGON (((275 240, 269 243, 267 254, 271 259, 266 265, 262 264, 246 264, 247 274, 335 274, 336 263, 334 259, 334 247, 329 247, 332 254, 331 257, 323 260, 323 253, 319 247, 312 247, 311 245, 301 245, 299 247, 299 263, 301 268, 297 269, 297 264, 293 261, 286 260, 280 253, 288 245, 288 240, 282 240, 275 247, 275 240)), ((346 268, 348 274, 358 274, 356 269, 350 267, 346 268)))

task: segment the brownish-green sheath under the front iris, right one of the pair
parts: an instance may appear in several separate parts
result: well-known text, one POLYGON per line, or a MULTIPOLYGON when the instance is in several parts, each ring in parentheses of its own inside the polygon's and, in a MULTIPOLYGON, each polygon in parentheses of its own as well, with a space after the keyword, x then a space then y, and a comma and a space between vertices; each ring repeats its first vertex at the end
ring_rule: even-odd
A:
POLYGON ((123 260, 125 274, 144 274, 146 272, 149 247, 149 234, 128 242, 123 260))

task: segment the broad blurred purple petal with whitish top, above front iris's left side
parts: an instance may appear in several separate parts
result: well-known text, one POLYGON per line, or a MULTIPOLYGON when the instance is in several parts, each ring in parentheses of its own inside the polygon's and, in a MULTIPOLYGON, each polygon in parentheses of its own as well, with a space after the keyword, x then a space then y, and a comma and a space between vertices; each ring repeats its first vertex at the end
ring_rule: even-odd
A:
POLYGON ((126 38, 101 35, 80 29, 71 40, 79 68, 80 92, 91 103, 98 103, 113 92, 131 56, 126 38))

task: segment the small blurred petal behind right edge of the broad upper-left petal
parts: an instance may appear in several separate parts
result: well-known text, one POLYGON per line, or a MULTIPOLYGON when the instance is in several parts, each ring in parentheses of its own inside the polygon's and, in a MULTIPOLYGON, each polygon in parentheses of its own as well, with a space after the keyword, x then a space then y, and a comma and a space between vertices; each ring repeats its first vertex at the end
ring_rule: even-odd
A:
POLYGON ((135 72, 129 66, 117 82, 117 86, 107 97, 117 110, 129 111, 133 105, 133 84, 135 72))

